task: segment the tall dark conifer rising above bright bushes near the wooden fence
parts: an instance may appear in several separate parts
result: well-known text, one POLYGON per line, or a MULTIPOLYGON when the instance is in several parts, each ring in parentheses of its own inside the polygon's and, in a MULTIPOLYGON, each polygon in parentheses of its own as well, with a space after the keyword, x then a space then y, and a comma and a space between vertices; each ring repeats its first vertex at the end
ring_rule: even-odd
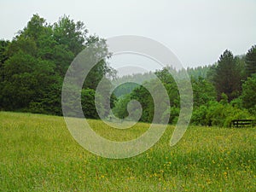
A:
POLYGON ((241 70, 238 57, 234 57, 230 50, 225 50, 213 68, 213 84, 217 91, 218 101, 221 94, 228 96, 229 102, 238 97, 241 92, 241 70))

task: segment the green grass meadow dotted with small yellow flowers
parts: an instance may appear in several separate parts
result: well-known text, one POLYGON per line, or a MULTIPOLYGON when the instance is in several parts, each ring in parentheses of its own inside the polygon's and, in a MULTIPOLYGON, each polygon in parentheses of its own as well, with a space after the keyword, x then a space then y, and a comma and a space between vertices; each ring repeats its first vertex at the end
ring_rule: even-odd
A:
MULTIPOLYGON (((112 140, 148 128, 90 124, 112 140)), ((80 147, 61 117, 0 112, 0 191, 256 191, 256 128, 193 126, 171 148, 173 128, 145 153, 110 160, 80 147)))

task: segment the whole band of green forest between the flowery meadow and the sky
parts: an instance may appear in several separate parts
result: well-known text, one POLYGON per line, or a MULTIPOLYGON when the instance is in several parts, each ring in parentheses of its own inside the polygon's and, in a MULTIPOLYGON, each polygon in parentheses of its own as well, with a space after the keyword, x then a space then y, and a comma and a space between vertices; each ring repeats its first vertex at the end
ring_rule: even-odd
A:
MULTIPOLYGON (((33 15, 12 41, 0 41, 0 110, 61 115, 61 87, 67 68, 81 50, 96 42, 106 47, 104 39, 88 35, 81 21, 75 22, 64 15, 54 24, 48 24, 39 15, 33 15)), ((127 104, 137 100, 143 107, 140 121, 151 122, 154 102, 145 85, 153 86, 154 77, 157 77, 164 84, 172 106, 163 115, 170 116, 170 124, 176 123, 179 92, 170 70, 180 79, 184 72, 189 73, 194 95, 192 124, 229 126, 232 119, 254 119, 255 45, 241 56, 226 49, 216 63, 207 67, 182 71, 166 67, 154 73, 121 78, 116 77, 116 71, 108 65, 107 58, 103 59, 84 81, 81 92, 84 116, 99 118, 95 107, 96 87, 102 77, 108 76, 113 84, 124 82, 108 98, 115 116, 125 118, 127 104), (129 79, 137 79, 142 85, 125 83, 129 79)), ((108 113, 104 116, 108 117, 108 113)))

